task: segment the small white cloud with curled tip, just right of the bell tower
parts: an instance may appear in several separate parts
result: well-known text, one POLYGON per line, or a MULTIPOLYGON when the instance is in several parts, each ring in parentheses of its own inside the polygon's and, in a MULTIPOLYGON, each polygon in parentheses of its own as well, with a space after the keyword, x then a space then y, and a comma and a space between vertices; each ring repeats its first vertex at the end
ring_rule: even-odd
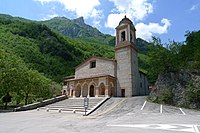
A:
POLYGON ((140 37, 145 40, 151 40, 151 37, 153 34, 164 34, 167 33, 168 28, 171 26, 171 23, 168 19, 163 18, 161 20, 161 23, 163 25, 160 25, 158 23, 138 23, 136 24, 135 28, 137 30, 137 37, 140 37))

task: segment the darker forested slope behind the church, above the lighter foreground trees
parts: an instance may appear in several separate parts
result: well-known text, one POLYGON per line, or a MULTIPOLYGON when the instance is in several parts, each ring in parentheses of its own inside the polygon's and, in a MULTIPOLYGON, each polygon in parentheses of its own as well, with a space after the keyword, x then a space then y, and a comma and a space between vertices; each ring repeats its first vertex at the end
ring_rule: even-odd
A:
POLYGON ((20 56, 30 68, 57 82, 73 74, 74 67, 92 55, 114 57, 112 47, 70 39, 43 24, 4 16, 0 24, 0 45, 20 56))

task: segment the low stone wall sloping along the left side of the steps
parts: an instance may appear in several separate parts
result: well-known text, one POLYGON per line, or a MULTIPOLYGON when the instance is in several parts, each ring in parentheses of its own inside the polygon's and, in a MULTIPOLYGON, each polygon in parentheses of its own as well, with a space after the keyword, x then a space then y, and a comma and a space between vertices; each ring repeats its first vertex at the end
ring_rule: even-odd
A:
POLYGON ((41 102, 24 105, 22 107, 17 107, 17 108, 14 109, 14 111, 26 111, 26 110, 36 109, 36 108, 43 107, 43 106, 46 106, 46 105, 49 105, 49 104, 52 104, 52 103, 55 103, 55 102, 65 100, 67 98, 68 98, 67 95, 62 95, 62 96, 47 99, 47 100, 44 100, 44 101, 41 101, 41 102))

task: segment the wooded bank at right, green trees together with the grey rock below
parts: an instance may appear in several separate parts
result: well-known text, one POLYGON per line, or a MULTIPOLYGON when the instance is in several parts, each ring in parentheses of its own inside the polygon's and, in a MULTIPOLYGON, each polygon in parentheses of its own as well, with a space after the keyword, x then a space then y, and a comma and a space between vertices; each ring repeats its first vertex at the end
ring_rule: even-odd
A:
POLYGON ((188 32, 185 42, 162 44, 154 38, 149 48, 148 76, 155 102, 200 109, 200 30, 188 32))

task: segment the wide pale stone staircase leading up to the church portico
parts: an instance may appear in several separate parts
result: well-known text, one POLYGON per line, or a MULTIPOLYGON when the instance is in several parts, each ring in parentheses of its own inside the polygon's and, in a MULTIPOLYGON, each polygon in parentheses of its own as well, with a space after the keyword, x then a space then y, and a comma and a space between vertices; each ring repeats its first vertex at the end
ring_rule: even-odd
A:
MULTIPOLYGON (((96 110, 101 104, 103 104, 108 97, 91 97, 89 98, 89 105, 86 110, 86 114, 92 113, 96 110)), ((58 111, 58 112, 72 112, 72 113, 85 113, 84 108, 84 98, 69 98, 60 102, 56 102, 45 107, 40 107, 41 110, 46 111, 58 111)))

